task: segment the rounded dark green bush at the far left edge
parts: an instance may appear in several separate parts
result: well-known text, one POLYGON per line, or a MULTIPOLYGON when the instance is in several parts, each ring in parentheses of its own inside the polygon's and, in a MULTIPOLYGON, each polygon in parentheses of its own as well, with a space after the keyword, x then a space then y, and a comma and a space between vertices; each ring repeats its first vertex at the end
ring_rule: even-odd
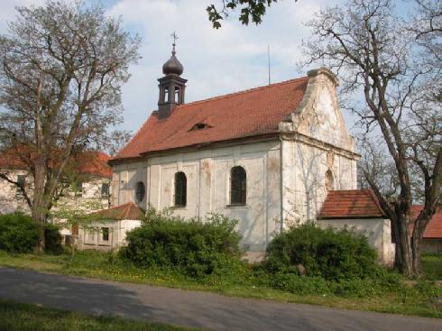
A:
POLYGON ((39 242, 39 225, 23 213, 0 216, 0 249, 30 253, 39 242))

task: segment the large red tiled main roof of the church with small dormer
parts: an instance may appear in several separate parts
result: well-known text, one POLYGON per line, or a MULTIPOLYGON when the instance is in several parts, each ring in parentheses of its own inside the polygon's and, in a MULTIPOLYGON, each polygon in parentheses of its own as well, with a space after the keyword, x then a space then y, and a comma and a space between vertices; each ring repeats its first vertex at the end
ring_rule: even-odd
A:
POLYGON ((204 143, 277 133, 278 124, 299 106, 308 78, 297 78, 222 97, 177 106, 167 119, 153 112, 112 160, 137 158, 204 143), (192 130, 196 124, 206 124, 192 130))

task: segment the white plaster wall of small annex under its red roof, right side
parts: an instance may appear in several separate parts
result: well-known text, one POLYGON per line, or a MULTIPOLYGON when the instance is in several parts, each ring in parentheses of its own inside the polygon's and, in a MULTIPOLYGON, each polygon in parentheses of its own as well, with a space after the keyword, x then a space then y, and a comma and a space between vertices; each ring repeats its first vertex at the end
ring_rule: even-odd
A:
POLYGON ((368 243, 376 249, 378 261, 385 265, 394 262, 394 244, 391 244, 391 226, 389 219, 359 218, 359 219, 322 219, 317 221, 321 227, 332 226, 341 229, 345 225, 354 227, 356 231, 364 233, 368 243))

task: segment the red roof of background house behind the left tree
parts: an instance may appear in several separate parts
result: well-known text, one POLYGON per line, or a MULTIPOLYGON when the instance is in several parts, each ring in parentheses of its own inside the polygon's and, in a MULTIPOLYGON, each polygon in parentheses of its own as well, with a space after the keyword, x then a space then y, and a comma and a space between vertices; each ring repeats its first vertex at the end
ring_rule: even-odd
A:
MULTIPOLYGON (((24 145, 9 148, 0 154, 0 169, 26 170, 29 169, 29 161, 35 157, 29 147, 24 145)), ((57 159, 57 154, 52 160, 57 159)), ((97 177, 112 178, 112 168, 107 164, 110 156, 105 152, 87 151, 75 156, 71 165, 81 174, 97 177)), ((54 163, 54 162, 52 162, 54 163)))

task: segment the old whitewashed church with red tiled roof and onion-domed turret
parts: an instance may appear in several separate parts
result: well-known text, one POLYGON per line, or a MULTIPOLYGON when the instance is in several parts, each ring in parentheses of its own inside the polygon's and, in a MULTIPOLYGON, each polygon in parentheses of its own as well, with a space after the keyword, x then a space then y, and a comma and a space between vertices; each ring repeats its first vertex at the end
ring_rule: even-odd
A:
POLYGON ((359 155, 330 70, 191 103, 175 44, 162 72, 158 110, 109 161, 114 206, 220 213, 262 252, 281 229, 316 219, 328 191, 356 188, 359 155))

